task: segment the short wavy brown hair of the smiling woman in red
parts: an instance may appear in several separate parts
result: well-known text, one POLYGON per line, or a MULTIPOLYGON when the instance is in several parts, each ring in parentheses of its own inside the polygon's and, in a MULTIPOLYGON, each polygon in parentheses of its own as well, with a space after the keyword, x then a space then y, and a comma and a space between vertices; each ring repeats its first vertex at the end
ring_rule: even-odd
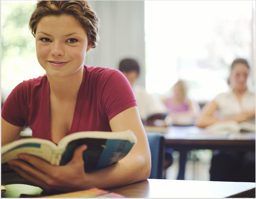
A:
POLYGON ((36 34, 36 27, 40 17, 48 15, 74 16, 87 32, 88 43, 92 42, 92 48, 97 46, 100 20, 88 1, 38 1, 29 22, 32 35, 35 36, 36 34))

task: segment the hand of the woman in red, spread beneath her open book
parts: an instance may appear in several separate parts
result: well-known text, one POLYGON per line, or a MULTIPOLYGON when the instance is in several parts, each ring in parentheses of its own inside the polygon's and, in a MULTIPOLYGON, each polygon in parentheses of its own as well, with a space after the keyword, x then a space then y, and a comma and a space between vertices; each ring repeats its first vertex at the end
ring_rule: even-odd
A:
POLYGON ((28 154, 19 154, 20 160, 8 161, 9 167, 20 174, 24 179, 42 188, 44 191, 78 191, 88 186, 85 179, 84 160, 82 153, 87 145, 75 149, 73 159, 66 165, 56 166, 28 154), (22 161, 24 160, 24 161, 22 161))

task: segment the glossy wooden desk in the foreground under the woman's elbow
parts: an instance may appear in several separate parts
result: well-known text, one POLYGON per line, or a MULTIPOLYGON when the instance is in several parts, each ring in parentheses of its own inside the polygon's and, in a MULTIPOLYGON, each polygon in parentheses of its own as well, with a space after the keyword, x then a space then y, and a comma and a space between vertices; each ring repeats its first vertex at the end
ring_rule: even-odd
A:
MULTIPOLYGON (((24 184, 5 187, 2 198, 18 198, 20 194, 42 192, 38 187, 24 184)), ((255 183, 148 179, 109 191, 127 198, 247 198, 255 195, 255 183)))

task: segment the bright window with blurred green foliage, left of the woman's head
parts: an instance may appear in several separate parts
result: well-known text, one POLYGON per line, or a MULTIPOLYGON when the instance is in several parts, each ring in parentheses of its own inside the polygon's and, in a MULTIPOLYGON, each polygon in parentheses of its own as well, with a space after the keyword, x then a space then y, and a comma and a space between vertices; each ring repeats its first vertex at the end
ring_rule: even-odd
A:
POLYGON ((36 1, 1 1, 2 97, 7 97, 20 82, 45 74, 28 27, 35 4, 36 1))

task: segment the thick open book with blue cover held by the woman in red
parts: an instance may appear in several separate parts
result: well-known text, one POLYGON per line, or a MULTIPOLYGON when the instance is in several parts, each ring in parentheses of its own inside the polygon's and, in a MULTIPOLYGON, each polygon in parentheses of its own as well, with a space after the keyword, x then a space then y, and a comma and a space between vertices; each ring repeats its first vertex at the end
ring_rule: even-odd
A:
POLYGON ((74 150, 86 144, 83 153, 85 172, 92 172, 123 159, 137 142, 131 130, 123 132, 78 132, 63 137, 58 145, 49 140, 25 138, 1 147, 1 184, 29 184, 8 167, 7 161, 28 153, 53 165, 65 165, 74 150), (17 178, 18 177, 18 178, 17 178))

